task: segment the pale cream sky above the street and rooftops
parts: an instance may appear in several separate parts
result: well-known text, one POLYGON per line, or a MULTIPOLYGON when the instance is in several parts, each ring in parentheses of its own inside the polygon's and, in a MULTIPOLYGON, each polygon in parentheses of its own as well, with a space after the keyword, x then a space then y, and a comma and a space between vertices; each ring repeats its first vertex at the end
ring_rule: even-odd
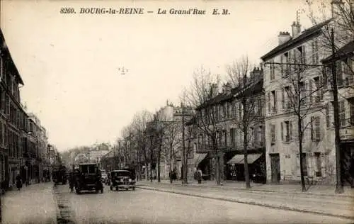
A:
MULTIPOLYGON (((59 151, 114 142, 135 113, 154 112, 201 66, 224 74, 248 55, 254 63, 291 31, 301 0, 1 1, 1 30, 25 85, 21 101, 59 151), (63 7, 76 14, 59 13, 63 7), (143 8, 142 15, 80 14, 81 8, 143 8), (157 15, 158 9, 205 15, 157 15), (212 9, 229 15, 213 16, 212 9), (146 13, 154 11, 154 13, 146 13), (121 74, 118 69, 128 72, 121 74)), ((300 14, 302 28, 309 28, 300 14)))

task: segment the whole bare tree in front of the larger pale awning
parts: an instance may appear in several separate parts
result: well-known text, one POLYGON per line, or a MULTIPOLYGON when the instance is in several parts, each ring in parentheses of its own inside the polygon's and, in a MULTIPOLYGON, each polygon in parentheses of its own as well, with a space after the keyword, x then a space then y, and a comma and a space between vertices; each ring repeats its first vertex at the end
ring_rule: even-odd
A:
POLYGON ((249 177, 248 150, 250 145, 253 145, 255 137, 255 125, 260 125, 264 122, 262 113, 263 106, 263 74, 261 70, 254 69, 248 57, 242 57, 241 60, 234 62, 227 67, 229 82, 232 83, 235 89, 236 101, 239 103, 239 116, 234 116, 234 123, 240 134, 243 135, 243 141, 240 142, 244 151, 244 176, 246 188, 251 187, 249 177), (261 86, 261 88, 260 88, 261 86))

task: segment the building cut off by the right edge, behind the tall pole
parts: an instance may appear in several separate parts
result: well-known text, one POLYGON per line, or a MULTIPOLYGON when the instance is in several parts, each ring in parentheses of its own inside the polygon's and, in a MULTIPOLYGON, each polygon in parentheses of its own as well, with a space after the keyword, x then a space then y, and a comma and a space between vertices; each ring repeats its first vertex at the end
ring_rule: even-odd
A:
MULTIPOLYGON (((339 125, 341 136, 341 165, 344 184, 354 184, 354 41, 336 51, 334 56, 322 60, 326 65, 326 78, 331 77, 332 60, 336 63, 338 86, 339 125)), ((332 89, 331 82, 325 82, 332 89)), ((329 145, 334 146, 333 92, 324 94, 325 116, 329 145)))

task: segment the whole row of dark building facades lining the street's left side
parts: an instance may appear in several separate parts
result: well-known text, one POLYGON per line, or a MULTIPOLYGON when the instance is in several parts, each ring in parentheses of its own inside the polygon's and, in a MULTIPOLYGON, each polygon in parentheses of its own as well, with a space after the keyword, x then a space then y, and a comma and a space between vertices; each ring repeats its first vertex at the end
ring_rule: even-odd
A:
MULTIPOLYGON (((32 178, 39 181, 45 167, 42 161, 47 151, 46 131, 35 125, 21 104, 21 86, 23 80, 0 30, 0 182, 3 188, 15 186, 18 174, 24 181, 32 178)), ((36 121, 39 122, 38 118, 36 121)))

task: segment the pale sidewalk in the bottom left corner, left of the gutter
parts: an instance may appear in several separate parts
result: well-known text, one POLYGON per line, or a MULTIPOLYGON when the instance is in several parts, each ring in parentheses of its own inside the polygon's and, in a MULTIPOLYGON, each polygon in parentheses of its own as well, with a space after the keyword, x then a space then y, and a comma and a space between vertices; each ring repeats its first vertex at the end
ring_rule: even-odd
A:
POLYGON ((3 223, 56 223, 52 182, 31 184, 1 197, 3 223))

